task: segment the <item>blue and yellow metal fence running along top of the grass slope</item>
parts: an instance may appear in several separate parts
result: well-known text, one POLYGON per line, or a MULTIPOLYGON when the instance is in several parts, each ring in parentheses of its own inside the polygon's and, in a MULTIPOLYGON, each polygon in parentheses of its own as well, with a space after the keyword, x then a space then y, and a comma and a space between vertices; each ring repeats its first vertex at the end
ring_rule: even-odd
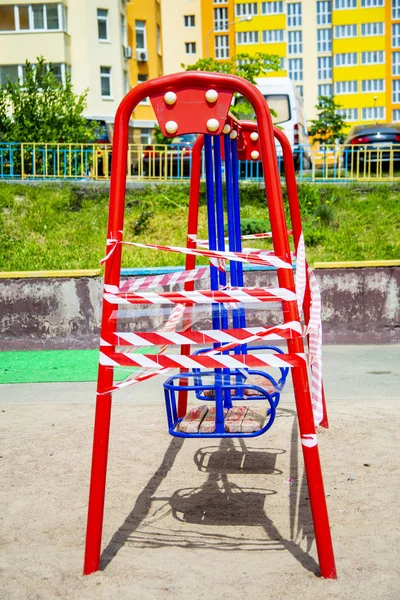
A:
MULTIPOLYGON (((127 178, 159 182, 187 179, 191 151, 191 146, 180 144, 130 144, 127 178)), ((400 181, 400 144, 303 146, 294 149, 294 161, 300 181, 400 181)), ((279 153, 278 162, 283 173, 279 153)), ((111 163, 111 144, 0 144, 0 180, 108 180, 111 163)), ((239 161, 239 174, 242 180, 263 177, 261 164, 251 161, 239 161)))

